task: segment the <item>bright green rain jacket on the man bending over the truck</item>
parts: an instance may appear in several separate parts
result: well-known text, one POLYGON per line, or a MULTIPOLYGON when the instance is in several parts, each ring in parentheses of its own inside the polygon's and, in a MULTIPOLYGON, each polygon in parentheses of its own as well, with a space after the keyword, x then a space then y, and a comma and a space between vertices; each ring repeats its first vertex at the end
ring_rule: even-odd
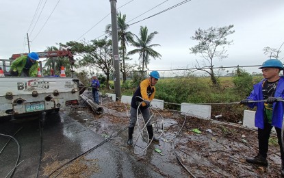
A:
MULTIPOLYGON (((18 71, 18 76, 21 75, 25 63, 27 62, 27 55, 22 55, 21 57, 16 58, 10 66, 10 68, 16 72, 18 71)), ((29 77, 36 77, 38 75, 38 62, 36 61, 31 68, 29 68, 29 77)))

